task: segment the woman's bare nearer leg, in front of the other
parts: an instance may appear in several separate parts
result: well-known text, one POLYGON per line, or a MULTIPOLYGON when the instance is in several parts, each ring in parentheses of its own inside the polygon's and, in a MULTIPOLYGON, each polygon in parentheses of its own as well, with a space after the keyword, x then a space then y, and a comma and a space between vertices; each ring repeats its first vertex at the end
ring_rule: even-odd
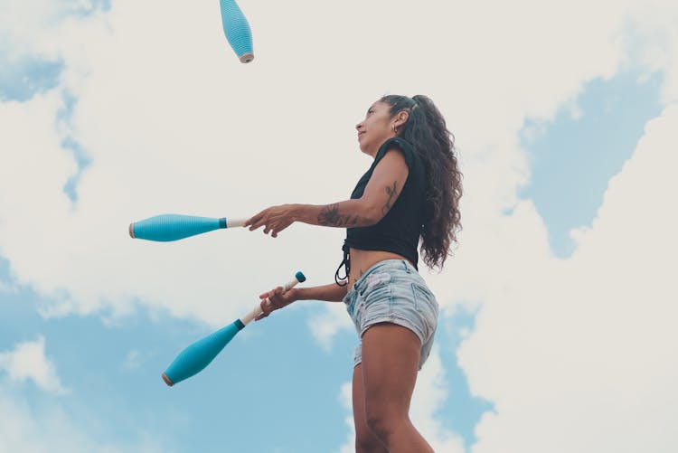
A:
POLYGON ((406 327, 383 323, 363 334, 365 424, 391 453, 433 452, 410 422, 420 351, 419 337, 406 327))

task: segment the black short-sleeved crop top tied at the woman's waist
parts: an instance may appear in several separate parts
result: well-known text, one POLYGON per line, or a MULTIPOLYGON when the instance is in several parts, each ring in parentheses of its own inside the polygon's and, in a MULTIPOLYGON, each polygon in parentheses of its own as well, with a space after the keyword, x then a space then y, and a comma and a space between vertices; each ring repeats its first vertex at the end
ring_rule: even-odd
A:
POLYGON ((374 168, 391 149, 400 150, 402 156, 405 157, 405 163, 409 169, 408 177, 398 199, 380 222, 368 227, 346 229, 346 240, 343 247, 344 261, 339 265, 339 269, 337 269, 334 276, 338 284, 340 284, 339 280, 347 278, 351 271, 348 256, 348 251, 351 248, 391 251, 407 258, 417 268, 419 261, 417 248, 419 246, 421 227, 424 222, 426 169, 424 168, 421 156, 419 156, 414 147, 400 137, 386 140, 380 146, 377 155, 374 156, 372 166, 360 178, 358 184, 355 185, 353 193, 351 193, 351 199, 358 199, 363 196, 374 168), (339 270, 343 266, 346 267, 346 276, 344 278, 339 277, 339 270))

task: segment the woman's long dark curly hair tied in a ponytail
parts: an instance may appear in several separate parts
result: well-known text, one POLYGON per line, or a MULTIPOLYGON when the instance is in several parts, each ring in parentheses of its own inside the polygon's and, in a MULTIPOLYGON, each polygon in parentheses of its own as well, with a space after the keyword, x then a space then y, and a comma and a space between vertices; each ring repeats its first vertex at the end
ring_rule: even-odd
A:
POLYGON ((445 118, 426 96, 409 98, 391 94, 380 101, 391 107, 391 118, 402 110, 409 114, 397 135, 414 146, 428 175, 419 249, 429 269, 442 269, 447 257, 452 255, 450 246, 458 243, 457 232, 461 231, 459 199, 463 175, 458 170, 454 136, 447 130, 445 118))

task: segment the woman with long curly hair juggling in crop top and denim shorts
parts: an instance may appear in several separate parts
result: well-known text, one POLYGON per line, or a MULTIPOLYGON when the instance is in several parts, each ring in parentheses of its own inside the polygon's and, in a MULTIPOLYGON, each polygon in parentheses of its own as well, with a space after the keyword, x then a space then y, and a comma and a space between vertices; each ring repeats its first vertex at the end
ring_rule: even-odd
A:
POLYGON ((353 419, 358 452, 433 451, 410 422, 417 372, 428 358, 438 303, 417 269, 442 266, 460 229, 461 174, 445 120, 425 96, 389 95, 367 110, 358 142, 372 156, 350 200, 284 204, 252 217, 250 230, 273 237, 293 222, 346 228, 344 261, 335 282, 262 294, 274 307, 296 300, 344 301, 361 344, 353 369, 353 419), (345 275, 340 276, 345 267, 345 275))

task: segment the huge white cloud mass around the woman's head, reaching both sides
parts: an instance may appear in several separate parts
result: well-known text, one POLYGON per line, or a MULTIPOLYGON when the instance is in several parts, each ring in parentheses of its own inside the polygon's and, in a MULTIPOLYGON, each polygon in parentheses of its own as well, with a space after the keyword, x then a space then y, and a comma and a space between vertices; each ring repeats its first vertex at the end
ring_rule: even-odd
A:
MULTIPOLYGON (((574 233, 571 260, 552 257, 540 216, 516 196, 530 176, 517 141, 524 118, 576 111, 586 81, 625 64, 663 71, 664 100, 676 99, 676 10, 654 4, 657 14, 639 1, 252 3, 257 58, 243 66, 215 5, 119 0, 59 22, 71 4, 42 2, 33 22, 0 23, 0 52, 65 65, 60 87, 0 104, 0 254, 17 283, 56 300, 52 313, 140 301, 221 325, 297 269, 309 285, 331 281, 341 231, 154 244, 129 240, 127 223, 343 199, 368 164, 352 129, 365 107, 384 92, 424 92, 456 133, 466 174, 463 246, 428 280, 445 310, 483 303, 462 364, 497 413, 479 425, 476 452, 580 451, 576 439, 596 451, 674 446, 661 427, 676 418, 665 360, 676 344, 665 302, 675 300, 675 223, 662 209, 675 188, 657 176, 675 166, 658 151, 674 141, 673 110, 611 182, 598 222, 574 233), (75 109, 58 119, 67 95, 75 109), (76 204, 62 190, 77 171, 65 137, 91 160, 76 204), (637 423, 636 410, 651 415, 637 423)), ((318 327, 322 341, 333 323, 318 327)))

